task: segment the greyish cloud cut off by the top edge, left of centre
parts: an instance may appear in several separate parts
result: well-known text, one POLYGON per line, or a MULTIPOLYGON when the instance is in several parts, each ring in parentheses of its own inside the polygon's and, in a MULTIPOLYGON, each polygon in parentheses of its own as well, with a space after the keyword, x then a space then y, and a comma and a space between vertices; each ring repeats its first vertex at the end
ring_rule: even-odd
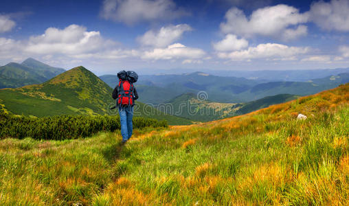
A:
POLYGON ((100 15, 133 25, 142 21, 177 19, 188 12, 177 8, 172 0, 104 0, 100 15))

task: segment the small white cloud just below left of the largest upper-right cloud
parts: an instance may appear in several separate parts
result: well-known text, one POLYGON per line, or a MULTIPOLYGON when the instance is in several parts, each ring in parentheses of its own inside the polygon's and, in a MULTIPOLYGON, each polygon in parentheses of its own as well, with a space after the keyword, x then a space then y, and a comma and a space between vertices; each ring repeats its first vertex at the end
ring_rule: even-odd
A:
POLYGON ((249 42, 245 38, 238 39, 236 35, 227 34, 222 41, 212 44, 214 49, 219 52, 230 52, 234 50, 240 50, 249 45, 249 42))

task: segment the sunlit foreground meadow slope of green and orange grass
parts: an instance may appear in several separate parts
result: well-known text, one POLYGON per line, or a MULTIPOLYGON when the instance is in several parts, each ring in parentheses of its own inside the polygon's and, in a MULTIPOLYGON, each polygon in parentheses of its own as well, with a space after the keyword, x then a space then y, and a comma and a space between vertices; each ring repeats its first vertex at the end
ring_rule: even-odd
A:
POLYGON ((120 133, 4 139, 0 204, 348 205, 348 102, 346 84, 216 122, 137 130, 124 147, 120 133))

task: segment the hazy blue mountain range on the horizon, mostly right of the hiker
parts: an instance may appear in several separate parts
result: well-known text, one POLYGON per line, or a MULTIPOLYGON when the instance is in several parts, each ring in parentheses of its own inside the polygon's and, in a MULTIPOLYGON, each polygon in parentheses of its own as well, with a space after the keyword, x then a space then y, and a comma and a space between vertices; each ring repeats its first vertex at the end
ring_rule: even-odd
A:
MULTIPOLYGON (((116 76, 100 76, 115 87, 116 76)), ((203 72, 140 76, 136 83, 139 100, 151 104, 169 102, 183 93, 205 91, 212 102, 251 102, 278 94, 310 95, 349 82, 349 73, 308 80, 308 82, 271 82, 247 78, 213 76, 203 72)))

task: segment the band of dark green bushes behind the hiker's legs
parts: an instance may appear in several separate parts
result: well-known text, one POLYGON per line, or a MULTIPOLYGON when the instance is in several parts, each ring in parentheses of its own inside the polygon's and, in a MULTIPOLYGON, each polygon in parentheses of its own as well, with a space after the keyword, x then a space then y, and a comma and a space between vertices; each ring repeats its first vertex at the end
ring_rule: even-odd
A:
MULTIPOLYGON (((133 118, 133 128, 166 127, 166 121, 133 118)), ((54 117, 25 117, 0 113, 0 139, 13 137, 23 139, 76 139, 89 137, 100 131, 113 132, 120 129, 120 118, 117 116, 71 116, 60 115, 54 117)))

